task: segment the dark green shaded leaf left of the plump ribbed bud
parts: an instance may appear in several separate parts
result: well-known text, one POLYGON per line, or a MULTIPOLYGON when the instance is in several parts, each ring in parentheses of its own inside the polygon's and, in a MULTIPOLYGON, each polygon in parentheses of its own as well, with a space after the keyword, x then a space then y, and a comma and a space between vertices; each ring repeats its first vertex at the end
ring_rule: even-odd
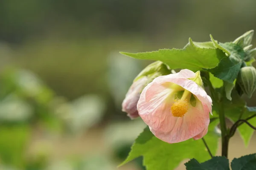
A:
POLYGON ((208 69, 208 71, 219 79, 233 83, 239 73, 241 65, 242 60, 231 54, 230 57, 221 59, 220 63, 215 68, 208 69))

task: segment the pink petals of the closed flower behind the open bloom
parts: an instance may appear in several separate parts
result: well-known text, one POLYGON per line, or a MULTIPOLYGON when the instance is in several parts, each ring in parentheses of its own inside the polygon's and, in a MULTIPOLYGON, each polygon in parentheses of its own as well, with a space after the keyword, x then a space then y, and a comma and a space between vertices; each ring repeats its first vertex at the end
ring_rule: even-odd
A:
POLYGON ((139 117, 139 113, 137 111, 137 103, 140 99, 140 94, 147 85, 148 78, 142 77, 137 81, 133 82, 131 87, 129 88, 124 101, 122 102, 122 111, 127 113, 131 119, 135 119, 139 117))

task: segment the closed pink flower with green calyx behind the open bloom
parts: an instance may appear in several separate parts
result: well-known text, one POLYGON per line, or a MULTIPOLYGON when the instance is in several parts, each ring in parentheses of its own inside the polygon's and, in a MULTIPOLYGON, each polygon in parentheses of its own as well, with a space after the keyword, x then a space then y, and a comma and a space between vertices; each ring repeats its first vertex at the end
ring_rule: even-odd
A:
POLYGON ((124 101, 122 102, 122 111, 126 112, 131 119, 139 117, 137 111, 137 103, 140 94, 148 83, 152 82, 156 77, 171 74, 167 66, 160 61, 153 62, 148 65, 134 79, 133 84, 129 88, 124 101))

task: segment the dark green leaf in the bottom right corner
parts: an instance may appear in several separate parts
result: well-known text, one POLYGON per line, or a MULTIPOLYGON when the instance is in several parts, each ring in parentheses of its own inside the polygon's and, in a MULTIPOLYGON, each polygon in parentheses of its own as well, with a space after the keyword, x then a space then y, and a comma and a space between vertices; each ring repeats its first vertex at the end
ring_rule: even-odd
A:
POLYGON ((231 168, 232 170, 256 170, 256 153, 233 159, 231 168))

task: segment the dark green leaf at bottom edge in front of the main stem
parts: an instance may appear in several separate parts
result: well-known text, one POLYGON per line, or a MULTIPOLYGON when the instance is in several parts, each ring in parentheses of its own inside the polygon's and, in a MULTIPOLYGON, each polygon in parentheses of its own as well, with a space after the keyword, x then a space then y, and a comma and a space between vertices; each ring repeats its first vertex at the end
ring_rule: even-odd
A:
POLYGON ((228 159, 224 156, 212 157, 201 164, 196 159, 191 159, 185 165, 186 170, 230 170, 228 159))

